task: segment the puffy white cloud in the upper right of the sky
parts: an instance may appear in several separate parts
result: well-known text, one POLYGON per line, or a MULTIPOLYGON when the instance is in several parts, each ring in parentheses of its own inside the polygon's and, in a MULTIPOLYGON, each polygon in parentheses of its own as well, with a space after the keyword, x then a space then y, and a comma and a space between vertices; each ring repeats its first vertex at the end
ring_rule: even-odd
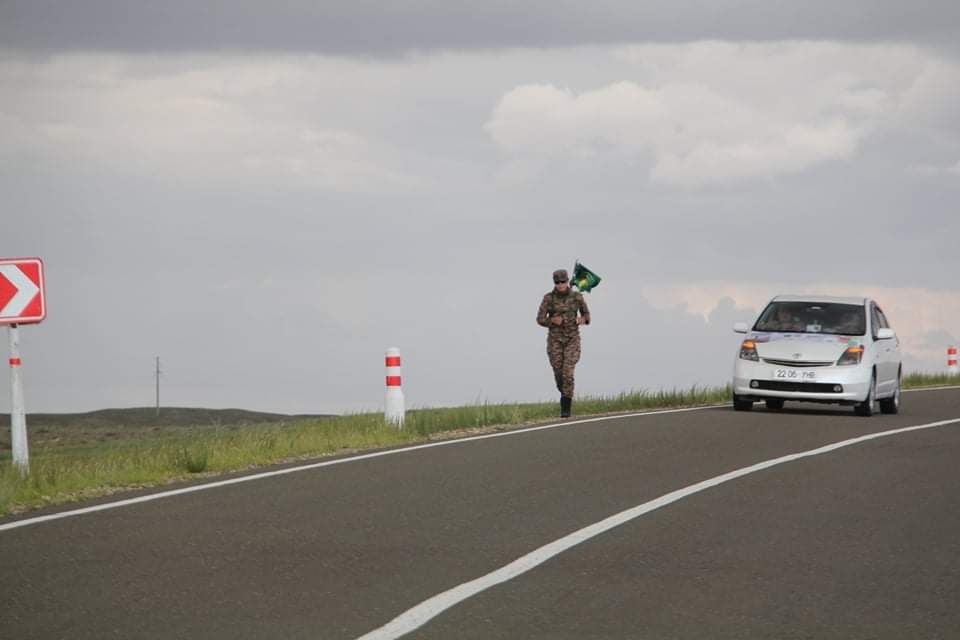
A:
POLYGON ((607 154, 647 160, 652 181, 682 187, 795 174, 850 158, 897 117, 938 112, 937 81, 957 77, 893 45, 701 42, 618 56, 635 77, 580 92, 520 85, 500 98, 486 130, 509 171, 607 154))

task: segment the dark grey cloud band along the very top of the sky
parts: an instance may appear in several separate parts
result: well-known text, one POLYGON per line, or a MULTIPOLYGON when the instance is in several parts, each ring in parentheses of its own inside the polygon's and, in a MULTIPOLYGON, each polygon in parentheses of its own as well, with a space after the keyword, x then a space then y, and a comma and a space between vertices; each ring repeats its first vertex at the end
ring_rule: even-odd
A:
POLYGON ((960 4, 854 0, 306 2, 7 0, 0 42, 52 51, 311 51, 556 47, 617 42, 899 40, 951 46, 960 4))

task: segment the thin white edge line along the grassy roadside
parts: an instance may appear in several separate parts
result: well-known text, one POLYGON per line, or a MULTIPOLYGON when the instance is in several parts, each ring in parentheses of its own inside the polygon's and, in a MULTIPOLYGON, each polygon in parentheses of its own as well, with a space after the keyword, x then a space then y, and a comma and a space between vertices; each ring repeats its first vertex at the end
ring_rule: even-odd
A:
POLYGON ((169 498, 172 496, 179 496, 185 493, 194 493, 196 491, 207 491, 208 489, 216 489, 219 487, 226 487, 232 484, 240 484, 242 482, 252 482, 253 480, 262 480, 264 478, 272 478, 274 476, 282 476, 288 473, 296 473, 298 471, 309 471, 310 469, 319 469, 320 467, 329 467, 335 464, 346 464, 348 462, 357 462, 359 460, 369 460, 371 458, 380 458, 383 456, 392 456, 399 453, 408 453, 410 451, 419 451, 420 449, 430 449, 433 447, 446 447, 450 445, 463 444, 465 442, 475 442, 477 440, 486 440, 488 438, 503 438, 507 436, 516 436, 524 433, 531 433, 533 431, 542 431, 544 429, 556 429, 558 427, 569 427, 577 424, 586 424, 588 422, 604 422, 607 420, 622 420, 624 418, 636 418, 642 416, 662 416, 667 413, 685 413, 688 411, 703 411, 705 409, 716 409, 724 405, 711 405, 707 407, 689 407, 686 409, 666 409, 663 411, 645 411, 638 413, 625 413, 615 416, 602 416, 599 418, 585 418, 583 420, 565 420, 564 422, 558 422, 554 424, 542 425, 539 427, 530 427, 529 429, 514 429, 511 431, 498 431, 497 433, 487 433, 479 436, 470 436, 467 438, 458 438, 455 440, 443 440, 441 442, 430 442, 427 444, 418 444, 410 447, 403 447, 400 449, 387 449, 386 451, 376 451, 374 453, 365 453, 358 456, 351 456, 349 458, 338 458, 337 460, 327 460, 326 462, 315 462, 312 464, 302 465, 299 467, 289 467, 286 469, 277 469, 276 471, 264 471, 263 473, 257 473, 249 476, 241 476, 239 478, 231 478, 229 480, 218 480, 216 482, 208 482, 206 484, 198 484, 190 487, 184 487, 182 489, 173 489, 171 491, 162 491, 160 493, 151 493, 149 495, 140 496, 137 498, 129 498, 126 500, 118 500, 116 502, 106 502, 104 504, 98 504, 92 507, 84 507, 81 509, 73 509, 70 511, 61 511, 59 513, 51 513, 45 516, 36 516, 34 518, 26 518, 24 520, 15 520, 13 522, 8 522, 6 524, 0 524, 0 531, 9 531, 10 529, 18 529, 20 527, 27 527, 34 524, 40 524, 41 522, 49 522, 51 520, 60 520, 62 518, 70 518, 73 516, 80 516, 87 513, 95 513, 97 511, 106 511, 107 509, 117 509, 119 507, 126 507, 134 504, 140 504, 141 502, 151 502, 153 500, 160 500, 161 498, 169 498))

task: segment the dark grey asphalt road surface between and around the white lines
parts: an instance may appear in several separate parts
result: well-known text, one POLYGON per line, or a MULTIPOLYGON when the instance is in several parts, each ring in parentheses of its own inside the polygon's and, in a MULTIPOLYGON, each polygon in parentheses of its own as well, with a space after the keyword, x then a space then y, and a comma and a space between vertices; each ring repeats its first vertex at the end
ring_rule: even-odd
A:
MULTIPOLYGON (((795 407, 513 432, 0 531, 0 638, 357 638, 677 489, 960 418, 960 390, 897 416, 795 407)), ((408 637, 960 638, 958 602, 955 423, 690 495, 408 637)))

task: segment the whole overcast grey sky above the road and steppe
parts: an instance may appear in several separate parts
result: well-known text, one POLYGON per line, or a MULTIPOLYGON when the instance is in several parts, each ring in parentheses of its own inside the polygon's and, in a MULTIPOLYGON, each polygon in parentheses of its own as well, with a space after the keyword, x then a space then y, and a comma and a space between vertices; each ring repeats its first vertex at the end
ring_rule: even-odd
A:
MULTIPOLYGON (((0 257, 27 408, 554 399, 722 384, 778 293, 960 338, 956 2, 0 0, 0 257), (269 8, 268 8, 269 7, 269 8)), ((4 368, 0 385, 9 385, 4 368)), ((9 394, 0 393, 0 411, 9 394)))

